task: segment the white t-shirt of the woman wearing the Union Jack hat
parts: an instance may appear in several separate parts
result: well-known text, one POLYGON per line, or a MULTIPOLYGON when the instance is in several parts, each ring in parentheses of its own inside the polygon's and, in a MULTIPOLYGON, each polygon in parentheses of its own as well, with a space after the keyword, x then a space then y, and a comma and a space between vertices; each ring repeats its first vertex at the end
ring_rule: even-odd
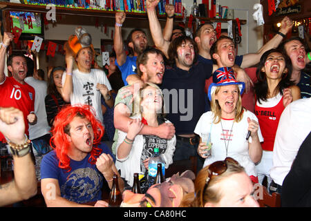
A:
MULTIPOLYGON (((198 124, 196 124, 194 133, 198 135, 202 132, 211 133, 212 143, 211 157, 205 159, 203 167, 218 160, 225 160, 225 157, 232 157, 245 168, 247 175, 257 176, 255 164, 249 158, 248 143, 252 142, 252 137, 249 137, 247 142, 247 117, 258 122, 254 113, 245 110, 241 122, 236 123, 233 119, 222 119, 222 128, 220 122, 218 124, 213 123, 214 114, 211 111, 202 114, 198 124), (227 156, 225 143, 227 144, 227 156)), ((263 142, 260 128, 258 128, 258 137, 259 141, 263 142)))

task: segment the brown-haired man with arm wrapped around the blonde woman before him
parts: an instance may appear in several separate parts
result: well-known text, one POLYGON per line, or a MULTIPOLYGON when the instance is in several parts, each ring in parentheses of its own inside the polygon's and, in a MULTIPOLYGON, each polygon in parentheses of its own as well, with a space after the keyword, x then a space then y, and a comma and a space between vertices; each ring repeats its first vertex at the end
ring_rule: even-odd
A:
MULTIPOLYGON (((114 111, 114 124, 115 124, 115 136, 113 137, 114 143, 112 146, 113 153, 115 154, 115 147, 117 144, 117 130, 128 132, 128 124, 133 119, 130 118, 133 103, 134 90, 138 91, 144 83, 151 82, 153 84, 162 84, 162 78, 164 75, 164 55, 156 48, 149 48, 144 50, 137 59, 138 73, 134 76, 140 79, 140 84, 133 84, 131 86, 124 86, 117 93, 115 98, 115 111, 114 111), (124 95, 129 96, 124 96, 124 95)), ((131 75, 133 76, 133 75, 131 75)), ((139 134, 142 135, 156 135, 163 139, 170 140, 175 135, 175 128, 173 124, 163 123, 158 127, 144 125, 139 134)))

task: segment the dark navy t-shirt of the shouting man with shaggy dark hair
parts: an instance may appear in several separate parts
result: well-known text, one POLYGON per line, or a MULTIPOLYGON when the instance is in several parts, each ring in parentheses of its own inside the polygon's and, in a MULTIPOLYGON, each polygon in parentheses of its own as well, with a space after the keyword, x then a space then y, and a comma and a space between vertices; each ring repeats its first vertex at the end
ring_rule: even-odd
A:
POLYGON ((176 128, 176 135, 194 133, 205 112, 205 79, 211 77, 213 66, 197 61, 188 70, 166 67, 160 88, 164 95, 167 119, 176 128))

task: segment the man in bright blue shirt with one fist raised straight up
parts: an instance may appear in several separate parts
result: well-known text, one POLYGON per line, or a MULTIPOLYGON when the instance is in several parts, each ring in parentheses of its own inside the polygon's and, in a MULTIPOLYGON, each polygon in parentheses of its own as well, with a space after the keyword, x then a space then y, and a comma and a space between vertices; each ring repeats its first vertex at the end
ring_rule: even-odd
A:
POLYGON ((115 64, 122 73, 124 85, 128 83, 126 77, 136 73, 136 59, 144 49, 148 47, 148 39, 146 33, 140 28, 131 30, 126 41, 129 46, 129 56, 126 55, 122 39, 122 24, 125 20, 124 12, 115 13, 115 35, 113 38, 113 47, 115 49, 115 64))

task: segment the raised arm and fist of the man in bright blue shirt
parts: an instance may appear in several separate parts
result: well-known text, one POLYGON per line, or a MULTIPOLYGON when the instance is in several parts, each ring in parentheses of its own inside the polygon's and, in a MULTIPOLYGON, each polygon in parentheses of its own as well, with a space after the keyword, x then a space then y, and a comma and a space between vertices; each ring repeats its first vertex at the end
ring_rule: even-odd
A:
POLYGON ((113 48, 115 49, 116 61, 119 66, 122 66, 126 61, 126 53, 122 39, 122 24, 125 17, 126 15, 124 12, 115 13, 115 35, 113 37, 113 48))

